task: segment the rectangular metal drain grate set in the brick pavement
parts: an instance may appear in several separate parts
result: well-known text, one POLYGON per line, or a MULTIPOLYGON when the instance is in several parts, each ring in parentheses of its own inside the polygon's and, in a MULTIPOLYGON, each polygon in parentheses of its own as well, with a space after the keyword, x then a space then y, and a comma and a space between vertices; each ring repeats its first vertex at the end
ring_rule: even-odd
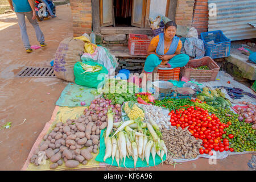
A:
POLYGON ((15 77, 55 78, 54 69, 49 67, 25 67, 15 77))

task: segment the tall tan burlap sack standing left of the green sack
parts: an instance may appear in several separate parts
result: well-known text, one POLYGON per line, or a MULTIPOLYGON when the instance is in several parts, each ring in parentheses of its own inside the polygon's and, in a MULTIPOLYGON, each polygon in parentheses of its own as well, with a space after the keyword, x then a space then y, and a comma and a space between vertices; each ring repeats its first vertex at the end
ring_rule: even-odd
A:
POLYGON ((77 61, 80 61, 82 53, 84 53, 82 40, 70 37, 61 41, 55 53, 53 65, 56 77, 75 82, 73 68, 77 61))

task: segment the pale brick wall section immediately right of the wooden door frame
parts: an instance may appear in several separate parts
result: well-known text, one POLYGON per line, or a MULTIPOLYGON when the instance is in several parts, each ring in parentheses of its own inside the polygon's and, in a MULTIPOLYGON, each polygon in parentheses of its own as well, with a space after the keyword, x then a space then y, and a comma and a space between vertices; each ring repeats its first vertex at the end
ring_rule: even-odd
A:
POLYGON ((175 22, 181 26, 192 26, 195 0, 177 0, 175 22))

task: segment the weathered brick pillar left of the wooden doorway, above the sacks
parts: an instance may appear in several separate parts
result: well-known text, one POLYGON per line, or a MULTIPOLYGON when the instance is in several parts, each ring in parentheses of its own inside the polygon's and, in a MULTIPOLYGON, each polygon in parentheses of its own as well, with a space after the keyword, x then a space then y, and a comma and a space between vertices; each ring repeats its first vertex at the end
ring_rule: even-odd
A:
POLYGON ((73 18, 73 36, 81 36, 92 31, 91 0, 70 0, 73 18))

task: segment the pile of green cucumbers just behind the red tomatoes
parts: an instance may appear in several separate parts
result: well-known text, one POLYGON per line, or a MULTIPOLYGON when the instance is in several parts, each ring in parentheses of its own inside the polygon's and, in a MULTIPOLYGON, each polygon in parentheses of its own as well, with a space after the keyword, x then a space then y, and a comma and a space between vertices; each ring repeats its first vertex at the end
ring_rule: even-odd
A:
POLYGON ((197 98, 213 106, 215 109, 218 109, 218 107, 228 109, 232 106, 228 98, 225 97, 225 93, 222 93, 220 89, 209 90, 207 87, 204 87, 203 92, 197 94, 197 98))

